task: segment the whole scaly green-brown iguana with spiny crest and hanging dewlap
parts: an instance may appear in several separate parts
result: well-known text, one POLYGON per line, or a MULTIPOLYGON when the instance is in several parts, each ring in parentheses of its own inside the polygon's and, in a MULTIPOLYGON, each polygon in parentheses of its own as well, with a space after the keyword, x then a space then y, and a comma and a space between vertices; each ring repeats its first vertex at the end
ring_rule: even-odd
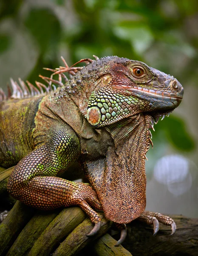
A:
POLYGON ((102 210, 121 229, 116 245, 136 218, 153 224, 154 234, 158 221, 174 233, 173 219, 144 211, 145 159, 149 129, 180 104, 183 87, 140 61, 94 57, 79 61, 85 67, 62 58, 65 67, 51 70, 58 80, 41 76, 48 86, 11 80, 12 96, 0 91, 0 166, 16 165, 8 192, 39 209, 78 205, 95 224, 88 236, 100 228, 94 209, 102 210), (91 186, 57 177, 76 160, 91 186))

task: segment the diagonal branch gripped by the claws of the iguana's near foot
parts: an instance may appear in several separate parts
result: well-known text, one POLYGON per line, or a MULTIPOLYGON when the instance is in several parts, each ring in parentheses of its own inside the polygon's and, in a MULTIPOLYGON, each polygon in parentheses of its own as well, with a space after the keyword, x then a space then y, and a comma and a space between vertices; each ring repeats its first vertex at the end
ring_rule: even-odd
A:
POLYGON ((111 223, 108 221, 102 213, 99 213, 101 217, 101 228, 96 236, 88 237, 87 234, 91 232, 93 224, 90 219, 85 219, 79 224, 69 236, 59 245, 57 250, 52 254, 53 256, 71 256, 78 253, 82 248, 91 244, 94 240, 102 236, 110 228, 111 223))

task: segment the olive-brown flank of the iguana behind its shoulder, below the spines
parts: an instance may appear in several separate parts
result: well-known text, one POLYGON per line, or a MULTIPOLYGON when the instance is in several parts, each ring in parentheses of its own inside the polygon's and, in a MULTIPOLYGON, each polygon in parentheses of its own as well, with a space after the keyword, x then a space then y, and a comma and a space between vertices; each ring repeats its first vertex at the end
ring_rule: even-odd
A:
POLYGON ((0 166, 14 166, 33 150, 34 118, 42 97, 0 102, 0 166))

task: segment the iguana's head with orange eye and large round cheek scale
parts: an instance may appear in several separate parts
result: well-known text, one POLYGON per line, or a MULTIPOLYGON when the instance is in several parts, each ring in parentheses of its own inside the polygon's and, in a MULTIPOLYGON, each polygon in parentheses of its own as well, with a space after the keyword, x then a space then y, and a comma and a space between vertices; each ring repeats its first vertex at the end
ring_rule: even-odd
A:
POLYGON ((93 61, 81 72, 94 78, 87 108, 88 122, 94 127, 141 112, 152 112, 158 118, 173 111, 183 97, 177 79, 141 61, 107 57, 93 61))

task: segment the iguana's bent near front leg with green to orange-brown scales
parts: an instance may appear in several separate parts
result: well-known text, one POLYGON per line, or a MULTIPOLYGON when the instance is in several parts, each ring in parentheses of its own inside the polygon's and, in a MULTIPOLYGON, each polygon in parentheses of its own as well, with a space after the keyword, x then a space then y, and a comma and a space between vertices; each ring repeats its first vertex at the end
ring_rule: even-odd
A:
POLYGON ((79 139, 68 126, 48 131, 47 139, 25 156, 8 180, 8 192, 24 204, 38 209, 79 205, 96 224, 89 235, 99 229, 100 217, 91 207, 101 209, 96 192, 84 183, 57 176, 74 162, 80 152, 79 139))

